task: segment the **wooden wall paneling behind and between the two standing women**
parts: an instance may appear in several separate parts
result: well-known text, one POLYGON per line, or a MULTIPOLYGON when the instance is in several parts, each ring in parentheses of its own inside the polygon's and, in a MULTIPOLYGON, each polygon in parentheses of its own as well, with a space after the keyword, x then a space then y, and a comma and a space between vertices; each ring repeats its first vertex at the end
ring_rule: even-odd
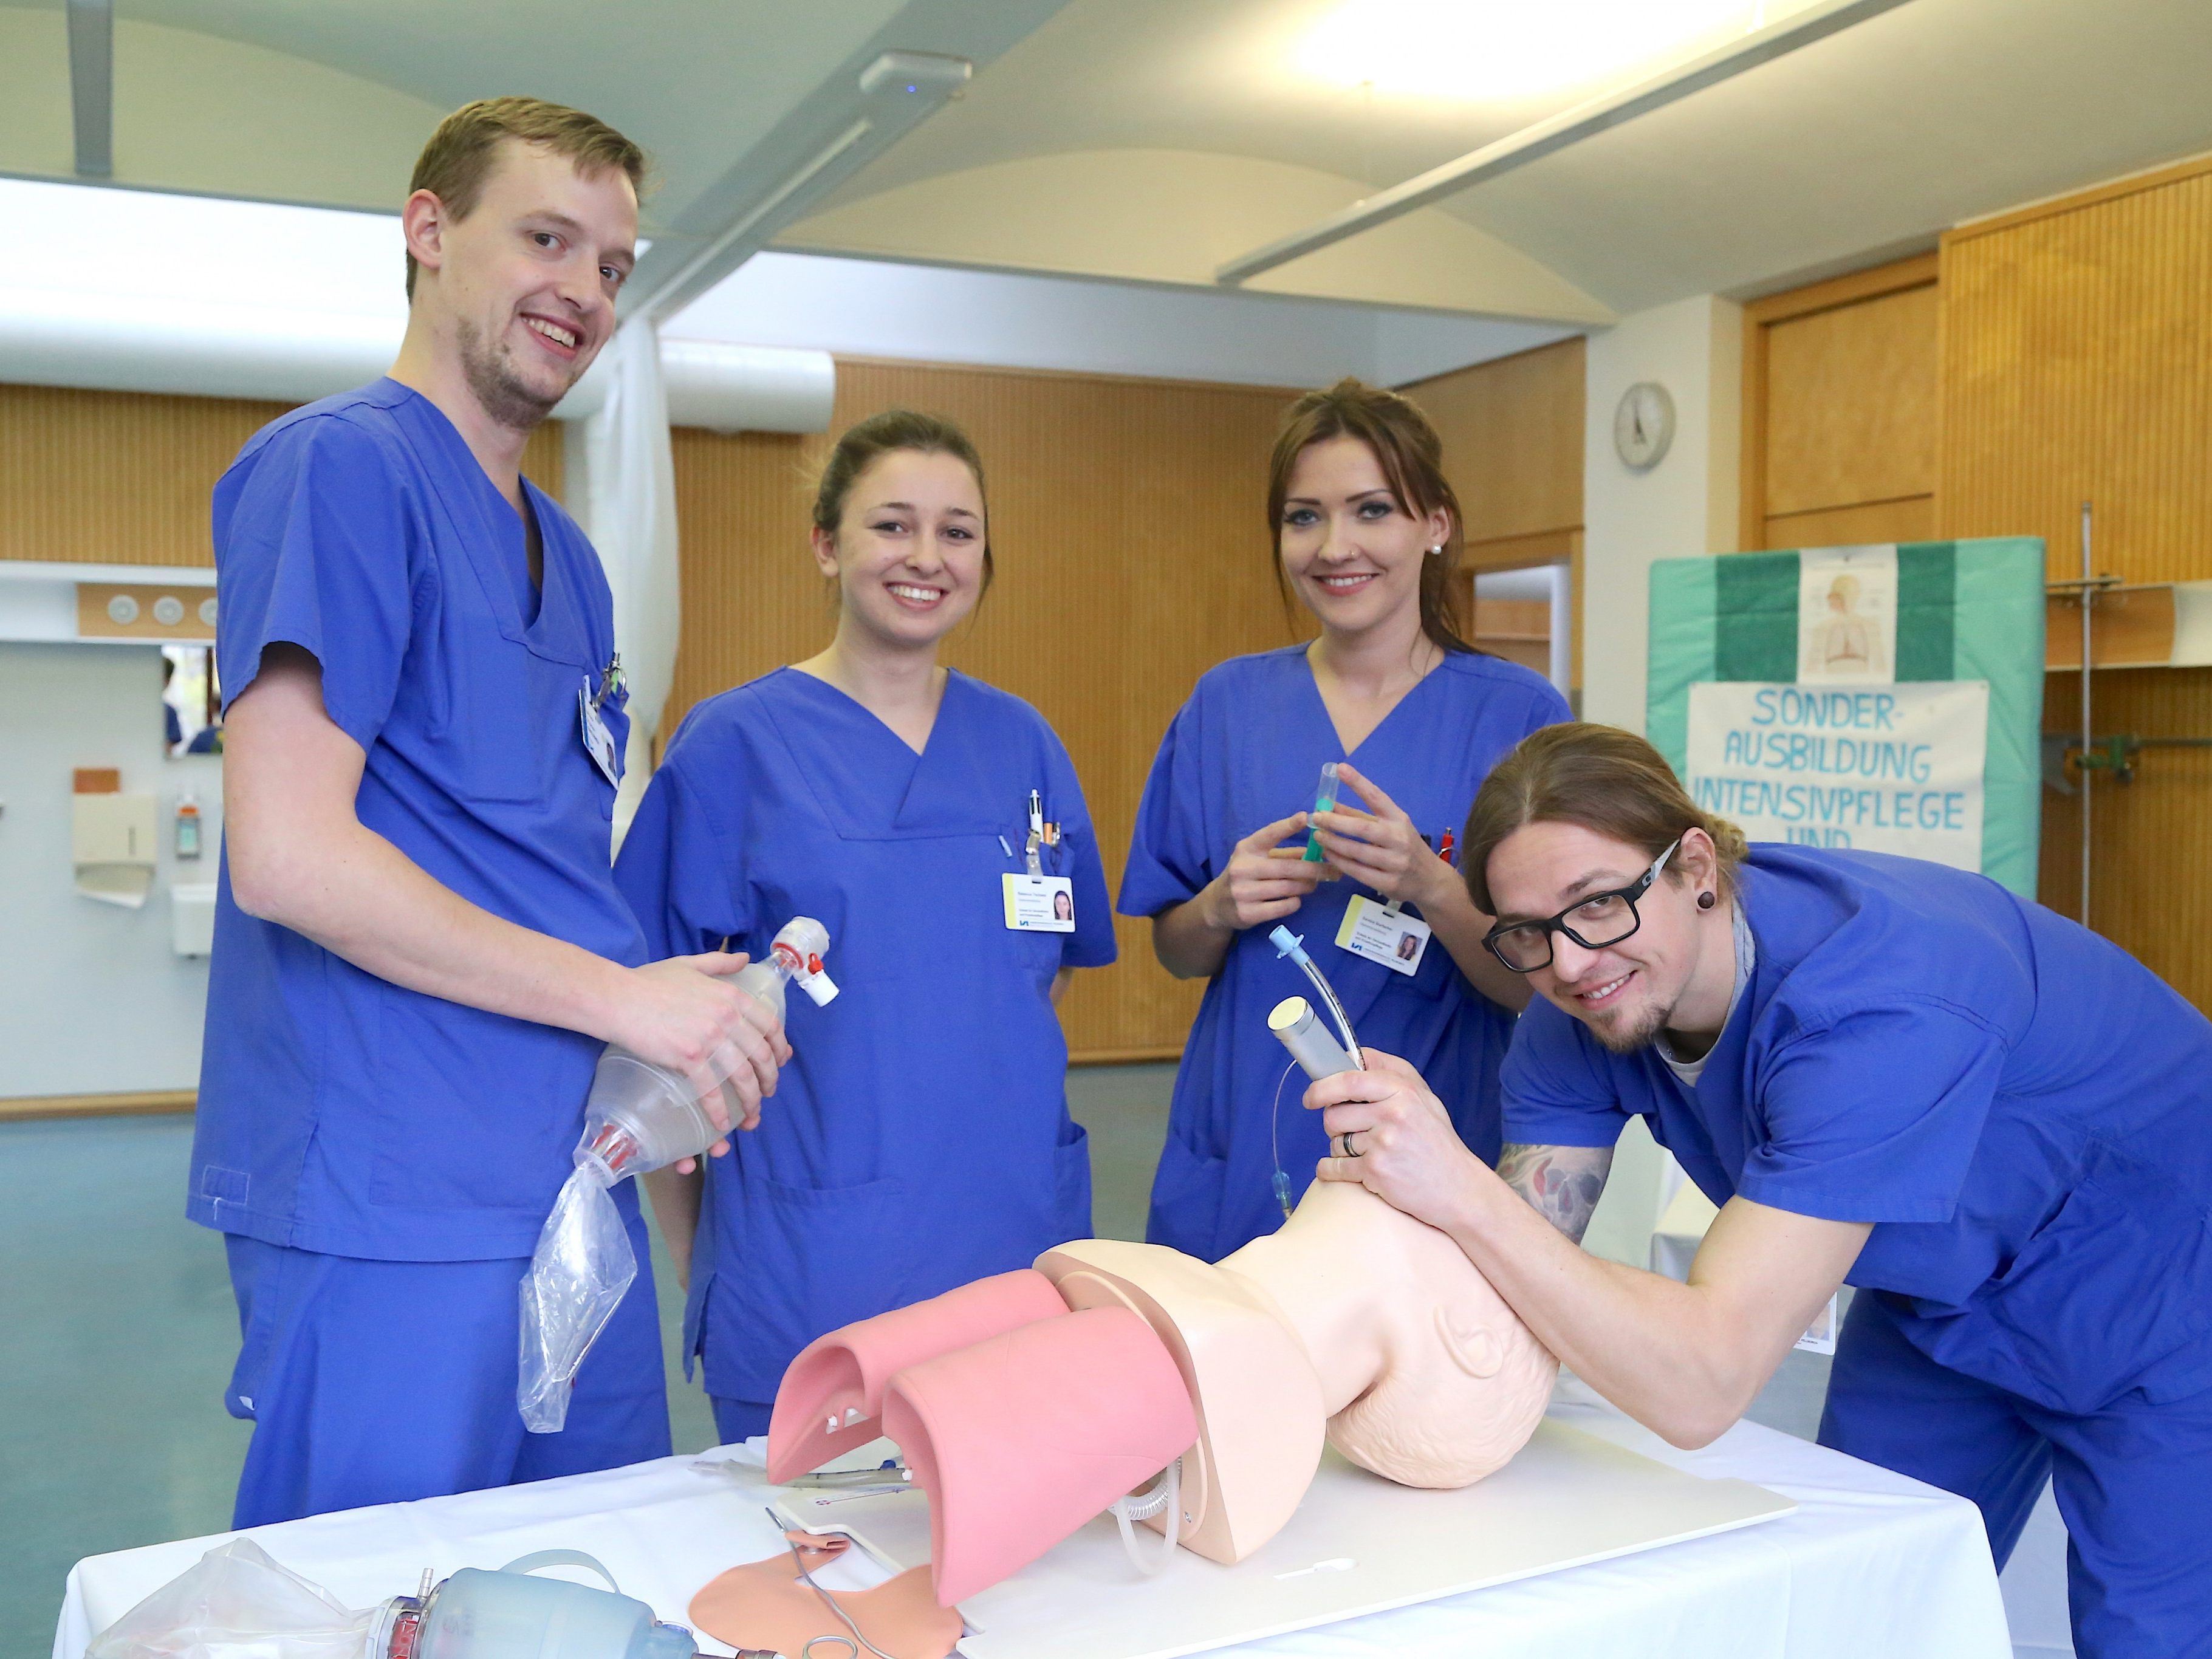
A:
MULTIPOLYGON (((1029 699, 1066 741, 1119 887, 1137 796, 1197 677, 1292 641, 1265 524, 1267 445, 1290 392, 1108 376, 838 363, 832 434, 679 429, 684 637, 668 714, 827 641, 807 557, 832 436, 894 405, 967 427, 991 491, 998 577, 947 659, 1029 699)), ((1117 920, 1121 960, 1062 1009, 1079 1060, 1181 1053, 1203 991, 1117 920)))

